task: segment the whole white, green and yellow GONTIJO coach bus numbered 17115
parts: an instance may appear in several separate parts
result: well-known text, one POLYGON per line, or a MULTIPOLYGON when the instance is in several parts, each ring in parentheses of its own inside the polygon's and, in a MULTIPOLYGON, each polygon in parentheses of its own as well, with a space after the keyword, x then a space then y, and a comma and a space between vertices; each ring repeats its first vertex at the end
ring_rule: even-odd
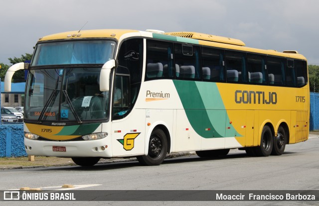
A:
POLYGON ((19 69, 28 70, 28 155, 159 165, 181 151, 281 155, 309 135, 307 60, 297 51, 196 32, 83 30, 40 38, 31 63, 6 73, 6 92, 19 69))

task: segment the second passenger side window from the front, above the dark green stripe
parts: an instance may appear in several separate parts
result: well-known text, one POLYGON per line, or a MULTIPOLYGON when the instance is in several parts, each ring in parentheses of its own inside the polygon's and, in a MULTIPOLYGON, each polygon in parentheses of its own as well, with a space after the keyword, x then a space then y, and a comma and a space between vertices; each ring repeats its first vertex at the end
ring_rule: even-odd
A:
POLYGON ((192 45, 174 45, 177 79, 201 79, 199 48, 192 45))

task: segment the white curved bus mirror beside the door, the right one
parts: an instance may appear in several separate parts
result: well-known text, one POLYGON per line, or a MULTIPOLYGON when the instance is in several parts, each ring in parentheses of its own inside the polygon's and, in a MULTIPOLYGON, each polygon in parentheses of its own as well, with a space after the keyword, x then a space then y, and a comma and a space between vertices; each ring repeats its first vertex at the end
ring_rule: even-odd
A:
POLYGON ((110 75, 111 70, 117 67, 117 61, 115 59, 111 59, 107 61, 100 73, 100 91, 101 92, 108 92, 110 90, 110 75))

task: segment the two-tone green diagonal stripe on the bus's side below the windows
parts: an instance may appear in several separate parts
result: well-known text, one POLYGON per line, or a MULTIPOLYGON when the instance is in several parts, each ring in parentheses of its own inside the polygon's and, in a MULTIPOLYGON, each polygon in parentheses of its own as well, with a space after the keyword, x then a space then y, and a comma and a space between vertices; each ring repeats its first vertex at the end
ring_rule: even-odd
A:
MULTIPOLYGON (((173 80, 188 121, 204 138, 226 137, 225 122, 229 122, 216 83, 173 80), (206 128, 209 128, 207 130, 206 128)), ((230 125, 227 133, 235 133, 230 125)))

